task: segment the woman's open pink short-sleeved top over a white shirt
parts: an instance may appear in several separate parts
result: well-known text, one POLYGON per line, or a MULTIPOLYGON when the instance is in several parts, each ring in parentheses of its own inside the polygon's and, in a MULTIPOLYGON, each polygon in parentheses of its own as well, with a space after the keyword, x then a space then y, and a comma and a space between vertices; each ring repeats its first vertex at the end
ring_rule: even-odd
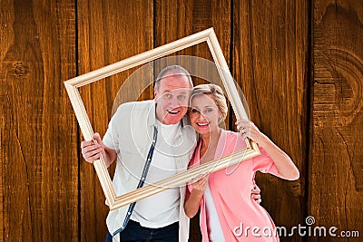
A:
MULTIPOLYGON (((240 133, 221 131, 214 159, 220 159, 244 149, 246 143, 240 133)), ((201 142, 194 151, 189 167, 200 164, 201 142)), ((210 174, 211 197, 220 219, 225 241, 279 241, 275 225, 268 212, 250 197, 257 170, 278 174, 278 170, 265 150, 261 155, 210 174)), ((191 191, 192 184, 188 186, 191 191)), ((202 241, 209 241, 204 197, 201 198, 200 226, 202 241)))

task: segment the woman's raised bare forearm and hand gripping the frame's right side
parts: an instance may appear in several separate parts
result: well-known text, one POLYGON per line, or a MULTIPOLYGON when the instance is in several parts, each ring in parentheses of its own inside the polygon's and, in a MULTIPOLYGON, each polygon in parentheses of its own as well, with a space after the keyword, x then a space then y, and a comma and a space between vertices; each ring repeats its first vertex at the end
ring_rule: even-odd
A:
POLYGON ((276 168, 279 171, 278 176, 281 179, 299 179, 299 169, 295 166, 294 162, 283 150, 273 143, 269 137, 263 134, 253 122, 237 121, 236 124, 243 139, 249 138, 266 150, 275 163, 276 168))

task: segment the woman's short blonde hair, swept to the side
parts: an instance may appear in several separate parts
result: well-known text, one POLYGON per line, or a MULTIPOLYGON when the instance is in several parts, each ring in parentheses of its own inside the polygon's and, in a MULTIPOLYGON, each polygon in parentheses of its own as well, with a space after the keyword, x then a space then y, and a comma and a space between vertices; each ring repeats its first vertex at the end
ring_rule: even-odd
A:
POLYGON ((224 119, 227 117, 228 106, 227 106, 226 97, 224 96, 221 87, 211 83, 195 86, 191 92, 190 103, 193 97, 201 94, 211 95, 218 109, 221 111, 221 121, 224 121, 224 119))

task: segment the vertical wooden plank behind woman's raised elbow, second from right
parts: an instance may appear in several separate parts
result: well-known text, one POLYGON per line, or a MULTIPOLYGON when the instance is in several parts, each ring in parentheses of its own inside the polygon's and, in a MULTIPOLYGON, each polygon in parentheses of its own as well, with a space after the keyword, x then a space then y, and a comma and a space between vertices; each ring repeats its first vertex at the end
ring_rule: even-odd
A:
MULTIPOLYGON (((309 2, 233 1, 233 76, 255 122, 297 164, 298 181, 262 174, 262 206, 279 226, 303 221, 307 165, 309 2)), ((282 241, 301 241, 294 237, 282 241)))

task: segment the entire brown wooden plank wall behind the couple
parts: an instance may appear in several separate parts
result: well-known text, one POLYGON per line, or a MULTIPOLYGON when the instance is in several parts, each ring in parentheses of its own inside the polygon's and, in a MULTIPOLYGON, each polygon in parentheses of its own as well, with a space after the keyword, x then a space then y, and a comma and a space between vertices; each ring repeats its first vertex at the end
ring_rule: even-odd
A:
MULTIPOLYGON (((295 182, 260 175, 262 205, 280 226, 312 216, 363 237, 362 23, 353 0, 1 0, 0 241, 104 240, 108 209, 63 82, 211 26, 250 120, 300 170, 295 182)), ((94 131, 132 71, 81 88, 94 131)))

